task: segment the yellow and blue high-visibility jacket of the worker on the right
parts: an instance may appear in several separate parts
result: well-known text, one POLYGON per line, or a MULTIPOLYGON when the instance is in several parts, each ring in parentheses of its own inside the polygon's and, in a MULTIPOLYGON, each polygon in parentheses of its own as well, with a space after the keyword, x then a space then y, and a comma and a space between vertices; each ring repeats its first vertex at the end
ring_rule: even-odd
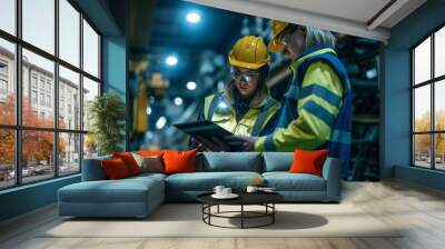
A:
POLYGON ((274 133, 260 137, 256 151, 327 148, 342 161, 345 179, 352 142, 352 90, 334 49, 315 46, 290 64, 293 80, 284 96, 274 133))

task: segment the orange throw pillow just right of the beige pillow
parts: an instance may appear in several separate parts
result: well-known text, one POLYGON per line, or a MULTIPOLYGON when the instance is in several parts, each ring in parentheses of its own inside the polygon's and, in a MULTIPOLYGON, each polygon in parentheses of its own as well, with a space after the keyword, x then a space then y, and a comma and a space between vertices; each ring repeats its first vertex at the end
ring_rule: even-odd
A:
POLYGON ((166 150, 162 156, 165 173, 196 172, 196 153, 197 150, 166 150))

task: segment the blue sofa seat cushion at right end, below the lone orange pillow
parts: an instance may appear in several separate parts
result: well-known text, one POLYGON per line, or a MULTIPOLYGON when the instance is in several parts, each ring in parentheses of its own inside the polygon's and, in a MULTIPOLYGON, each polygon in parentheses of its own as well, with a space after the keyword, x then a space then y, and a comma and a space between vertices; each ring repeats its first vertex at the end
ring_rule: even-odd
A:
POLYGON ((266 183, 278 191, 325 191, 325 179, 309 173, 266 172, 266 183))

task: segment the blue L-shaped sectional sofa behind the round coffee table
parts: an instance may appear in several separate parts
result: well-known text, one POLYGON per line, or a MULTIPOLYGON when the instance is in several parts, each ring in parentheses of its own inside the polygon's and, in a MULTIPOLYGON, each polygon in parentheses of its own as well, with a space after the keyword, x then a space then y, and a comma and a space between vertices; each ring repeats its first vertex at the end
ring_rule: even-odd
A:
POLYGON ((196 201, 215 186, 243 191, 254 178, 264 178, 289 202, 338 202, 340 163, 328 158, 323 177, 289 173, 291 152, 204 152, 197 172, 142 173, 107 180, 101 157, 83 160, 82 181, 58 190, 59 215, 76 217, 146 217, 165 201, 196 201))

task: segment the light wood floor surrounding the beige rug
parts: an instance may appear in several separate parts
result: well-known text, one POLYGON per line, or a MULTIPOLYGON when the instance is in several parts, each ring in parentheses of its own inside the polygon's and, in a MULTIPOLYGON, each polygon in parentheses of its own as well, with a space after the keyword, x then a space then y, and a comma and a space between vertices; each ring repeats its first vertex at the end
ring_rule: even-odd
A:
MULTIPOLYGON (((280 249, 280 248, 445 248, 445 193, 399 181, 347 182, 343 202, 385 225, 404 225, 397 238, 41 238, 58 222, 56 207, 0 223, 0 248, 280 249)), ((355 226, 350 223, 350 226, 355 226)), ((190 228, 192 229, 192 228, 190 228)))

